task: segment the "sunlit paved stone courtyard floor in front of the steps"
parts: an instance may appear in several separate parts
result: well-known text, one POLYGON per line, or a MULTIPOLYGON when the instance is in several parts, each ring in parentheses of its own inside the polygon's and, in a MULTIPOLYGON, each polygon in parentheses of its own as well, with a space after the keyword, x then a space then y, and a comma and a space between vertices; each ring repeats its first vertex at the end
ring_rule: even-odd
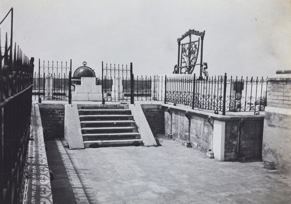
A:
POLYGON ((263 162, 209 159, 178 141, 65 150, 98 204, 291 203, 290 174, 263 162))

